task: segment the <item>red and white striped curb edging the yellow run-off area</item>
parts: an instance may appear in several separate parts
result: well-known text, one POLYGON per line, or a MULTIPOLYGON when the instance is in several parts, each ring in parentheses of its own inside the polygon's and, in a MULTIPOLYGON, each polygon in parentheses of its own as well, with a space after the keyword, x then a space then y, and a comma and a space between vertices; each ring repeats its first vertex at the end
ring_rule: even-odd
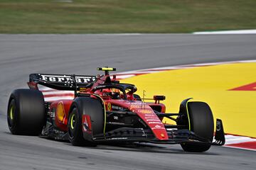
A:
MULTIPOLYGON (((117 79, 127 79, 130 77, 135 77, 143 74, 152 74, 156 72, 164 72, 170 70, 177 70, 177 69, 190 69, 194 67, 208 67, 220 64, 235 64, 235 63, 248 63, 248 62, 256 62, 256 60, 240 60, 240 61, 232 61, 232 62, 210 62, 210 63, 203 63, 203 64, 186 64, 186 65, 177 65, 171 67, 159 67, 159 68, 152 68, 152 69, 139 69, 129 72, 119 72, 115 74, 117 79)), ((43 96, 45 97, 45 101, 55 101, 59 99, 73 99, 74 98, 74 91, 58 91, 54 89, 50 89, 47 87, 42 87, 40 89, 43 92, 43 96)), ((239 135, 225 135, 225 147, 234 147, 240 149, 249 149, 256 151, 256 138, 252 137, 244 137, 239 135)))

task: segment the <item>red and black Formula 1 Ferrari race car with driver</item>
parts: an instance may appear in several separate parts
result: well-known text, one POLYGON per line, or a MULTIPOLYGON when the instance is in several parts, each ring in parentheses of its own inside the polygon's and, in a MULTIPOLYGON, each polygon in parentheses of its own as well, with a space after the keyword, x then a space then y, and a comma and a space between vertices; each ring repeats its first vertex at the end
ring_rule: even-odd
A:
POLYGON ((30 74, 30 89, 16 89, 9 98, 7 120, 16 135, 41 135, 69 140, 75 146, 96 146, 102 142, 151 142, 180 144, 187 152, 205 152, 211 145, 224 145, 221 120, 217 119, 213 142, 213 114, 204 102, 181 102, 178 113, 165 113, 160 103, 144 102, 134 94, 133 84, 111 79, 114 68, 98 68, 104 75, 30 74), (38 85, 74 91, 73 99, 46 102, 38 85), (162 123, 163 118, 174 125, 162 123))

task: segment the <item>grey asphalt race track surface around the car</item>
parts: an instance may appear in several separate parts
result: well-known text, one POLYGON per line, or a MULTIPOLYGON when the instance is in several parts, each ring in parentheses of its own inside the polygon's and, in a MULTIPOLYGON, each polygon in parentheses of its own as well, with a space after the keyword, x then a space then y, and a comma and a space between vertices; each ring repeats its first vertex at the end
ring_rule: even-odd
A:
MULTIPOLYGON (((11 135, 6 105, 28 74, 97 74, 151 67, 255 60, 256 35, 0 35, 0 169, 255 169, 256 152, 179 145, 73 147, 40 137, 11 135)), ((174 80, 175 81, 175 80, 174 80)))

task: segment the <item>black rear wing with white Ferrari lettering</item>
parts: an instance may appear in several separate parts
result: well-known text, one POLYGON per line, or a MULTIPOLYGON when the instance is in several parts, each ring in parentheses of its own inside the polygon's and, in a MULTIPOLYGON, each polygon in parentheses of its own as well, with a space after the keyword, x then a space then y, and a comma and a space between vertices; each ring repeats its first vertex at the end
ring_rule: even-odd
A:
POLYGON ((51 89, 76 91, 80 87, 90 86, 96 79, 96 76, 75 74, 30 74, 28 86, 31 89, 38 89, 37 85, 41 84, 51 89))

